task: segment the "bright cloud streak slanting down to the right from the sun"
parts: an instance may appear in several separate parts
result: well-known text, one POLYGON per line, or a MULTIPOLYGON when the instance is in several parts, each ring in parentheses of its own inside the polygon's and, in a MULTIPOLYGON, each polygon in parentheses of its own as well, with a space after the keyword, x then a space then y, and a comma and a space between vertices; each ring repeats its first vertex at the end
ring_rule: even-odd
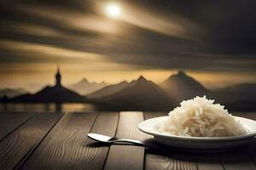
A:
POLYGON ((122 4, 123 14, 121 14, 119 20, 125 21, 133 26, 138 26, 149 31, 156 31, 166 36, 170 37, 180 37, 190 39, 189 29, 199 26, 189 22, 189 20, 184 20, 183 18, 177 18, 175 15, 171 15, 168 18, 163 17, 159 13, 154 13, 152 11, 148 12, 144 8, 139 8, 136 5, 122 4))

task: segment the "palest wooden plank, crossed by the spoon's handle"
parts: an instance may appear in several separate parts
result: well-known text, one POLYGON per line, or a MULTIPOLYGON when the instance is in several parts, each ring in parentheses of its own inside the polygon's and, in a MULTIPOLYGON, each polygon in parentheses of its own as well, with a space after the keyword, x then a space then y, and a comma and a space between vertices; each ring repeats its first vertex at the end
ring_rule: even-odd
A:
MULTIPOLYGON (((143 112, 120 112, 116 137, 143 140, 147 135, 139 132, 137 125, 143 122, 143 112)), ((142 146, 111 145, 104 169, 143 169, 144 150, 142 146)))

